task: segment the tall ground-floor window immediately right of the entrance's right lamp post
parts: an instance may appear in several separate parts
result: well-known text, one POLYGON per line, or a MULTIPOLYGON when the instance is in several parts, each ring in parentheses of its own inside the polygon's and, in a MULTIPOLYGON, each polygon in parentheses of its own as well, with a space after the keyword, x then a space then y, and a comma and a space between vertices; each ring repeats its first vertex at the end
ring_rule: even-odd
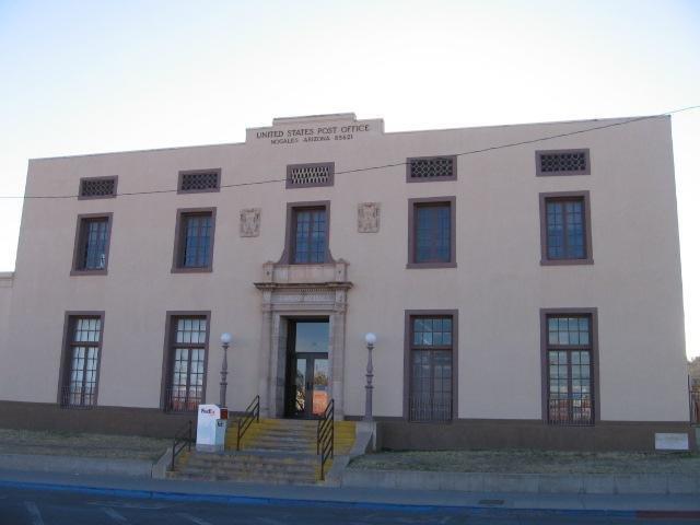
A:
POLYGON ((409 315, 410 421, 453 417, 453 315, 409 315))

